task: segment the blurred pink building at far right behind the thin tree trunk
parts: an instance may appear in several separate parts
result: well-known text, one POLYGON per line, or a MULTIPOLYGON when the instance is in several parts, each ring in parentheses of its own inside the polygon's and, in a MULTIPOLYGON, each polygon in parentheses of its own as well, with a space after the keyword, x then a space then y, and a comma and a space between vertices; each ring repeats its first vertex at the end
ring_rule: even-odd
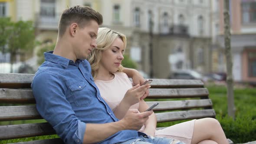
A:
MULTIPOLYGON (((223 0, 220 0, 219 49, 224 53, 223 0)), ((234 81, 256 82, 256 0, 230 0, 234 81)))

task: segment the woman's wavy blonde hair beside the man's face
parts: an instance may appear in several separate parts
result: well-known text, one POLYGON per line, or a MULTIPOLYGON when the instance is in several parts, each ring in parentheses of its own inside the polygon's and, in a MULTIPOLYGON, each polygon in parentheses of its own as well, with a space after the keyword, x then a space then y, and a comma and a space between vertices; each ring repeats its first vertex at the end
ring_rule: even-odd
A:
MULTIPOLYGON (((102 59, 102 51, 110 48, 115 39, 120 38, 124 47, 126 48, 126 36, 122 33, 118 33, 112 29, 101 27, 98 28, 98 36, 96 39, 97 48, 92 49, 91 55, 88 57, 88 61, 91 64, 92 76, 95 79, 97 77, 97 70, 99 67, 99 62, 102 59)), ((122 65, 118 67, 118 72, 121 72, 124 69, 122 65)))

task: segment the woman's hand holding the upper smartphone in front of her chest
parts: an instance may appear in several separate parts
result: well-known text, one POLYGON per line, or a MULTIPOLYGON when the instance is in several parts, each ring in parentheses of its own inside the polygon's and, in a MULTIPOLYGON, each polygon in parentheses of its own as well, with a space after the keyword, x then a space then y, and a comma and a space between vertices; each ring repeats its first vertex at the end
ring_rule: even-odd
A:
POLYGON ((130 105, 134 105, 141 100, 145 92, 148 91, 148 88, 150 87, 151 86, 149 84, 142 86, 135 85, 134 87, 128 89, 128 91, 125 93, 125 97, 123 98, 123 100, 130 105))

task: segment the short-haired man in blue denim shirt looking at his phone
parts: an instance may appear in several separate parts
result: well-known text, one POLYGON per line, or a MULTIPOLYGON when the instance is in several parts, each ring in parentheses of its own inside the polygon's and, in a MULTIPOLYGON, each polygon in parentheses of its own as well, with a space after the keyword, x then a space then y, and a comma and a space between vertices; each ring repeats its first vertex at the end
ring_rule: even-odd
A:
MULTIPOLYGON (((89 62, 84 60, 97 47, 95 39, 100 24, 102 15, 90 7, 64 10, 55 49, 45 53, 45 62, 31 85, 37 110, 66 144, 170 143, 172 139, 151 138, 136 131, 152 111, 130 110, 118 121, 101 98, 89 62)), ((125 72, 137 76, 133 69, 125 72)), ((141 88, 147 91, 148 86, 141 88)))

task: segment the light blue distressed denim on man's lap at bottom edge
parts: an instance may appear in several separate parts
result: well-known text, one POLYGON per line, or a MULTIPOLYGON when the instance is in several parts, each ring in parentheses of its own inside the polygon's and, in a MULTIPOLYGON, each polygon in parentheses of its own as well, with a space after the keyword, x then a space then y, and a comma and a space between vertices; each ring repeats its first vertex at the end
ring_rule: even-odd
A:
POLYGON ((139 136, 139 138, 134 138, 125 142, 121 142, 118 144, 185 144, 182 141, 175 140, 173 138, 165 138, 165 137, 145 137, 139 136))

